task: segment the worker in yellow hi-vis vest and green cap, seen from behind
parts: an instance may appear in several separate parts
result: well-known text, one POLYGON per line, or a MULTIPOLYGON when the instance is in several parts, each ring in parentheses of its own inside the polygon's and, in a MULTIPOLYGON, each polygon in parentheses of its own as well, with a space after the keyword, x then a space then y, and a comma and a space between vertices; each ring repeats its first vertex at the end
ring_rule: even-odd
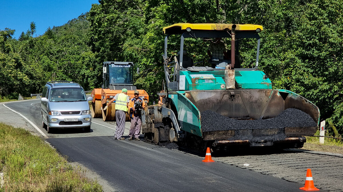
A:
POLYGON ((129 96, 127 96, 128 90, 123 88, 121 93, 118 93, 111 99, 108 104, 104 107, 103 110, 106 110, 109 105, 113 101, 116 101, 115 109, 116 109, 116 132, 114 134, 115 139, 117 140, 124 140, 125 138, 122 137, 125 131, 125 114, 128 112, 128 105, 130 102, 129 96))

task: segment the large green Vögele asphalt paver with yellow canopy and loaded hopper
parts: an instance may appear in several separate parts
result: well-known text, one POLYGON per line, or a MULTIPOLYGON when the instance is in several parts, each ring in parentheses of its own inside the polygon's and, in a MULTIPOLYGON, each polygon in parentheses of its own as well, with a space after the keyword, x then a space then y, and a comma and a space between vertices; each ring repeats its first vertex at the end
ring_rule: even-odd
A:
MULTIPOLYGON (((261 25, 252 24, 164 27, 167 92, 160 95, 167 99, 166 104, 147 106, 142 112, 145 140, 212 150, 237 145, 302 147, 304 136, 313 136, 318 129, 319 109, 292 91, 272 88, 268 76, 259 70, 262 31, 261 25), (186 55, 187 49, 217 38, 228 42, 226 57, 196 62, 197 54, 186 55), (173 56, 176 51, 168 52, 168 45, 175 44, 179 50, 173 56)), ((206 47, 192 50, 206 52, 206 47)))

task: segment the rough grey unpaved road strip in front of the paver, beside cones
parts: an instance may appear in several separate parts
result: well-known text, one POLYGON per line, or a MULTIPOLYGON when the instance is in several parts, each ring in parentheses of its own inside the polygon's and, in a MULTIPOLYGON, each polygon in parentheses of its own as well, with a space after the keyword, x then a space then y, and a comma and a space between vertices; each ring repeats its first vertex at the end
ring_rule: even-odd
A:
POLYGON ((310 168, 317 188, 334 192, 343 191, 342 157, 284 152, 235 155, 229 158, 213 157, 212 159, 216 162, 234 165, 297 183, 305 183, 306 170, 310 168))

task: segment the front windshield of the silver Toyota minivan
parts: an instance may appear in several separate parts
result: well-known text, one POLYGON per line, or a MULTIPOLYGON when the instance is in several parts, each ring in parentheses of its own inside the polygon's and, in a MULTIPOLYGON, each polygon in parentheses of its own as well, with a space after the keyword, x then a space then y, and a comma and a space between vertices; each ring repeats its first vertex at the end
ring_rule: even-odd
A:
POLYGON ((58 87, 51 88, 50 101, 53 102, 72 102, 85 101, 86 94, 80 87, 58 87))

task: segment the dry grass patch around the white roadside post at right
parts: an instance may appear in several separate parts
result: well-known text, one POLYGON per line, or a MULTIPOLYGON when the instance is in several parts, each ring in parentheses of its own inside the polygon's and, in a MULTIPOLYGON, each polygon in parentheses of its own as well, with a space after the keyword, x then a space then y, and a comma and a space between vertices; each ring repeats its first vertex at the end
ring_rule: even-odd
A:
MULTIPOLYGON (((315 135, 319 135, 319 131, 315 135)), ((319 143, 319 137, 306 137, 306 143, 301 149, 343 154, 343 140, 324 138, 324 143, 319 143)))

